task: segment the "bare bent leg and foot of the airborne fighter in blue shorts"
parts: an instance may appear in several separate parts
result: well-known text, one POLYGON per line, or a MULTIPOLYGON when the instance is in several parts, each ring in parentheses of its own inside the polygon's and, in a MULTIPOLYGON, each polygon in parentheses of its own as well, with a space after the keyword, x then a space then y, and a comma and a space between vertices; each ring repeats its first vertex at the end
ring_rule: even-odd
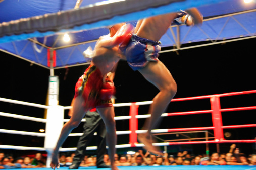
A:
POLYGON ((159 119, 162 113, 165 112, 171 99, 177 92, 177 84, 173 79, 170 71, 161 62, 149 62, 146 67, 139 70, 139 72, 152 84, 154 84, 160 92, 155 98, 153 103, 149 107, 148 114, 151 117, 148 118, 143 126, 143 129, 147 129, 147 133, 138 135, 139 140, 145 144, 147 150, 155 153, 159 153, 158 149, 152 146, 151 130, 159 123, 159 119))

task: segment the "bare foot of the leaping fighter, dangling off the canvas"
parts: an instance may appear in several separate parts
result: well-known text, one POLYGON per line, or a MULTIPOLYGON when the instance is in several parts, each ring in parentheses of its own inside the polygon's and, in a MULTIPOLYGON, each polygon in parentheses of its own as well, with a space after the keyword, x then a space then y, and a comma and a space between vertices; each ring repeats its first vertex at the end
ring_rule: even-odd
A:
POLYGON ((138 140, 145 145, 144 148, 149 152, 156 155, 163 155, 158 147, 152 145, 153 141, 151 139, 151 135, 149 135, 148 133, 138 134, 138 140))

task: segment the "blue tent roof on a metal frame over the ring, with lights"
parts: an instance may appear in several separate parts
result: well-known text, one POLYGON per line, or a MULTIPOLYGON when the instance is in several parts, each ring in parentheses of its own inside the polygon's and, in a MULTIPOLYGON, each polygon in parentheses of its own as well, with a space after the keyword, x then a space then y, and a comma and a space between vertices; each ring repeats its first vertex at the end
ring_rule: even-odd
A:
MULTIPOLYGON (((130 0, 131 1, 131 0, 130 0)), ((106 1, 105 1, 106 2, 106 1)), ((129 3, 129 0, 126 0, 129 3)), ((154 2, 154 1, 147 1, 154 2)), ((156 1, 155 1, 156 2, 156 1)), ((160 2, 160 1, 159 1, 160 2)), ((35 31, 21 35, 6 35, 0 37, 0 50, 21 57, 29 62, 43 67, 47 66, 47 49, 56 50, 56 67, 71 66, 90 62, 85 60, 82 52, 89 46, 95 46, 95 42, 101 35, 108 34, 104 26, 127 21, 136 25, 136 21, 143 17, 178 11, 180 8, 197 7, 203 14, 204 23, 201 27, 187 27, 185 25, 173 25, 161 38, 162 47, 175 47, 182 49, 182 44, 191 42, 216 42, 217 40, 240 39, 241 37, 254 38, 256 36, 256 3, 244 3, 241 0, 176 0, 161 1, 163 4, 154 8, 133 11, 128 9, 125 14, 116 17, 98 19, 91 23, 83 23, 75 27, 51 30, 45 32, 35 31), (130 10, 130 11, 129 11, 130 10), (74 31, 75 30, 75 31, 74 31), (63 42, 64 32, 69 32, 70 42, 63 42), (18 38, 17 38, 18 37, 18 38), (32 38, 37 37, 37 38, 32 38), (28 39, 29 38, 29 39, 28 39)), ((111 4, 113 7, 116 3, 111 4)), ((21 18, 42 16, 49 13, 58 13, 72 10, 75 1, 3 1, 0 3, 0 23, 19 20, 21 18)), ((81 8, 97 8, 103 6, 100 0, 83 1, 81 8), (101 3, 101 4, 94 4, 101 3), (90 5, 94 4, 94 5, 90 5)), ((99 10, 101 10, 99 8, 99 10)), ((108 12, 107 12, 108 13, 108 12)), ((111 12, 110 12, 111 14, 111 12)), ((1 28, 1 27, 0 27, 1 28)), ((176 49, 175 49, 176 50, 176 49)))

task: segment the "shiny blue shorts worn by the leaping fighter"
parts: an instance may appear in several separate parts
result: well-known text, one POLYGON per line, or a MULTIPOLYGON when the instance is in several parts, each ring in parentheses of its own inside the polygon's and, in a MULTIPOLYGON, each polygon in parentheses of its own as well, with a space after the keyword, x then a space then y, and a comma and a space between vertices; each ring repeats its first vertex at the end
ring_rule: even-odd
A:
POLYGON ((126 56, 129 66, 134 70, 141 69, 150 61, 158 61, 158 52, 161 51, 160 42, 132 35, 127 46, 120 46, 126 56))

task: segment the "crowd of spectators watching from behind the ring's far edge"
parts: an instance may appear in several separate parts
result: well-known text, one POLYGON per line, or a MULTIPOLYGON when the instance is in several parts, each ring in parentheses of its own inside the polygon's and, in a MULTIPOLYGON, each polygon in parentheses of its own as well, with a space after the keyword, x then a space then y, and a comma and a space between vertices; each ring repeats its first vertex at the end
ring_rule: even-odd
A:
MULTIPOLYGON (((70 166, 74 153, 59 156, 60 166, 70 166)), ((108 154, 104 155, 104 162, 110 165, 108 154)), ((235 144, 230 146, 228 153, 212 153, 209 157, 205 154, 193 155, 187 151, 178 152, 176 155, 164 153, 163 156, 156 156, 149 152, 143 153, 139 150, 135 154, 115 154, 117 166, 161 166, 161 165, 256 165, 256 154, 245 155, 239 152, 235 144)), ((96 166, 96 157, 86 155, 80 166, 96 166)), ((13 158, 0 152, 0 169, 10 168, 36 168, 46 167, 46 158, 41 153, 36 153, 32 158, 25 156, 13 158)))

